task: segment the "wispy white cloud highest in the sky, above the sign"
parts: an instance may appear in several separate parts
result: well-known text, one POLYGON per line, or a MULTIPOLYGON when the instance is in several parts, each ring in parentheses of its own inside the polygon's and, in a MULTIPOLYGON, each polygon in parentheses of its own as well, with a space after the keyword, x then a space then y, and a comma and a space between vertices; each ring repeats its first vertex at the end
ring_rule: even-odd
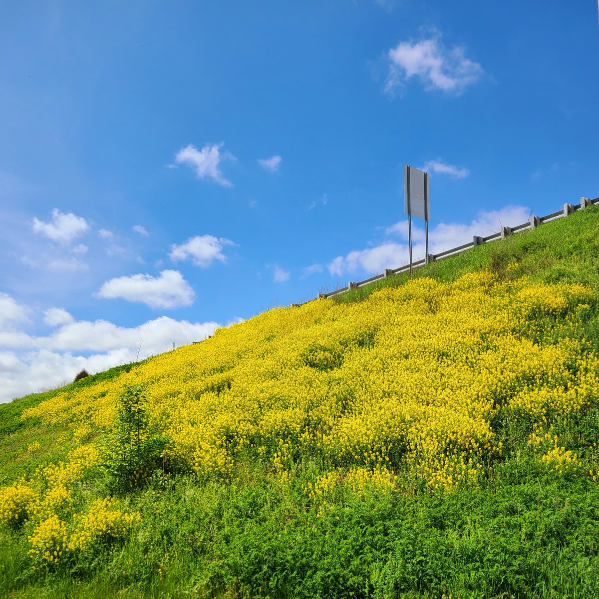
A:
POLYGON ((416 76, 427 90, 440 89, 458 95, 483 74, 479 63, 465 57, 464 48, 446 49, 438 31, 433 31, 428 39, 400 42, 389 50, 388 56, 389 74, 385 86, 388 92, 416 76))

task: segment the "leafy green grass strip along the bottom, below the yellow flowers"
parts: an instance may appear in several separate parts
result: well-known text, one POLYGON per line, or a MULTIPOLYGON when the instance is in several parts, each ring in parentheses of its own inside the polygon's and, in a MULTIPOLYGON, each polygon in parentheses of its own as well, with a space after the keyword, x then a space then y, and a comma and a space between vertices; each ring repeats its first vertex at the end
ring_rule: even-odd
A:
POLYGON ((86 572, 40 578, 2 539, 0 580, 8 597, 596 597, 597 485, 525 459, 500 470, 482 490, 347 497, 323 518, 259 468, 174 478, 134 498, 143 528, 86 572))

